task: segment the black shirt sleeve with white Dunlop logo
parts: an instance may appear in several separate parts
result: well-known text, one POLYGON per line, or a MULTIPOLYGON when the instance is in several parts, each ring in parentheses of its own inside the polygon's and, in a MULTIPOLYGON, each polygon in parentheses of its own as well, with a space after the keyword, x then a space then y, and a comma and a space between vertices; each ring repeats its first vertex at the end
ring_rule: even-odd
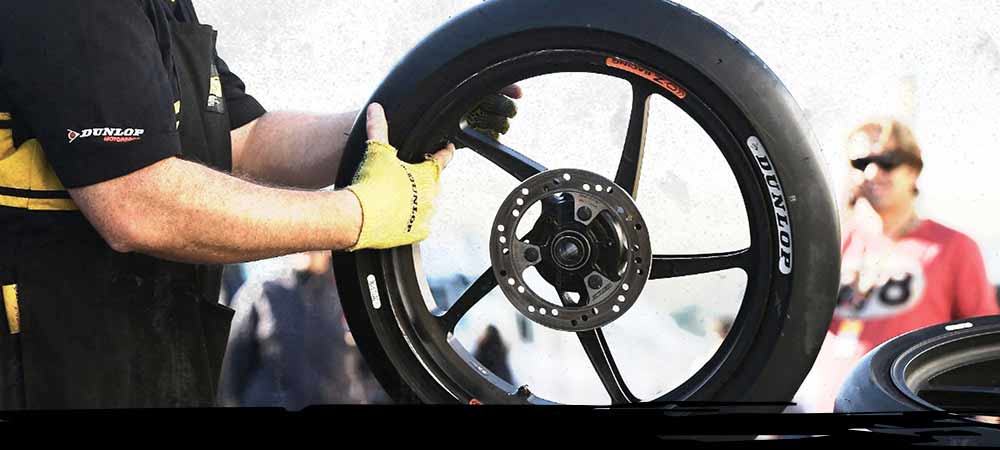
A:
POLYGON ((180 153, 175 86, 155 11, 136 0, 0 6, 0 65, 13 113, 67 188, 180 153))

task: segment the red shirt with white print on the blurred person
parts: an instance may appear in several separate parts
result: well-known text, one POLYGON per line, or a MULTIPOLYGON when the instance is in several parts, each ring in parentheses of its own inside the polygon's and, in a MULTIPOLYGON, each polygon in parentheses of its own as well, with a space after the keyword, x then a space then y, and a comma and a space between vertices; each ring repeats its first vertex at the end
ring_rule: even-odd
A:
POLYGON ((864 227, 845 236, 830 331, 856 334, 860 354, 907 331, 998 313, 982 254, 965 234, 924 220, 896 242, 864 227))

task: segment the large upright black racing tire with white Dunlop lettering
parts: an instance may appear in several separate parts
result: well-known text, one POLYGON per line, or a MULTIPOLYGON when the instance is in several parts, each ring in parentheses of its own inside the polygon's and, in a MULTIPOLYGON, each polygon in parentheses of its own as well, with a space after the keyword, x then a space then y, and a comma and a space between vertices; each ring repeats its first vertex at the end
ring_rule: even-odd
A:
MULTIPOLYGON (((819 146, 802 112, 775 74, 735 37, 687 8, 660 0, 492 0, 424 39, 371 101, 385 107, 389 139, 400 157, 419 160, 447 138, 447 130, 435 130, 433 124, 449 115, 447 120, 457 123, 477 100, 461 92, 496 92, 526 74, 547 70, 545 64, 519 73, 496 69, 497 75, 483 78, 490 73, 486 69, 550 49, 621 56, 666 74, 690 94, 688 99, 704 102, 702 111, 711 113, 696 119, 725 124, 719 139, 736 149, 727 159, 748 174, 740 180, 741 189, 749 192, 745 197, 756 199, 754 207, 764 218, 752 245, 759 245, 767 261, 766 270, 761 269, 766 276, 749 275, 759 295, 752 304, 744 303, 740 316, 745 320, 737 318, 730 333, 733 345, 716 355, 718 364, 662 400, 789 401, 812 366, 832 317, 839 285, 838 220, 819 146), (776 193, 784 203, 778 207, 749 148, 752 139, 766 149, 780 182, 776 193), (781 207, 791 227, 789 273, 779 267, 778 254, 787 248, 779 241, 788 238, 779 234, 775 213, 781 207)), ((673 101, 684 107, 683 101, 673 101)), ((350 183, 363 155, 363 116, 349 137, 340 186, 350 183)), ((474 371, 445 373, 441 365, 447 361, 421 343, 427 331, 407 320, 413 313, 408 297, 420 293, 402 281, 406 270, 401 268, 415 253, 401 247, 334 255, 350 329, 376 377, 399 402, 510 402, 503 395, 473 392, 467 384, 474 371)))

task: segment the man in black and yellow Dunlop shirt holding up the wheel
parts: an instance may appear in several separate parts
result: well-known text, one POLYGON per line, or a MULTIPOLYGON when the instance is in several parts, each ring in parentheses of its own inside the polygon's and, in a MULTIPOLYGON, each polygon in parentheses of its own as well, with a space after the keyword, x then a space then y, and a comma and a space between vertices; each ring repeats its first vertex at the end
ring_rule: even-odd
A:
POLYGON ((366 113, 354 184, 303 190, 356 114, 265 113, 190 0, 0 4, 0 409, 212 405, 219 264, 423 239, 454 147, 366 113))

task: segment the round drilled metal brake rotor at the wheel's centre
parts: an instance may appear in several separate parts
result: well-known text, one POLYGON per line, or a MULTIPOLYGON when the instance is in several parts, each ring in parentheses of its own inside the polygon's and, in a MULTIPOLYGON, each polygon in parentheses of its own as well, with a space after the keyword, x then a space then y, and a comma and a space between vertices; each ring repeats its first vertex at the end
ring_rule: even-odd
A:
POLYGON ((561 331, 591 330, 625 314, 649 278, 651 254, 632 197, 579 169, 526 179, 504 199, 490 235, 490 260, 504 296, 530 320, 561 331), (525 212, 539 202, 541 216, 518 236, 525 212), (559 298, 543 298, 525 281, 532 267, 559 298))

